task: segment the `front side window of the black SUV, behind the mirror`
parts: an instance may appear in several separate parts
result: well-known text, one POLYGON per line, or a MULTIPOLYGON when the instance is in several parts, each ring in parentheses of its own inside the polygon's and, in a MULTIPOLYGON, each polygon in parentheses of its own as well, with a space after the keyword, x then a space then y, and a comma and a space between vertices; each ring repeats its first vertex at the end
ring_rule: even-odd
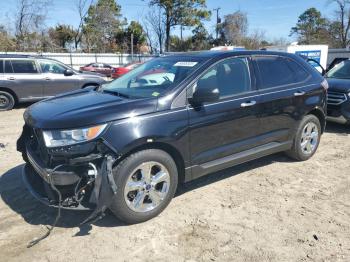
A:
POLYGON ((197 82, 197 88, 216 87, 220 99, 251 91, 247 58, 227 59, 210 69, 197 82))

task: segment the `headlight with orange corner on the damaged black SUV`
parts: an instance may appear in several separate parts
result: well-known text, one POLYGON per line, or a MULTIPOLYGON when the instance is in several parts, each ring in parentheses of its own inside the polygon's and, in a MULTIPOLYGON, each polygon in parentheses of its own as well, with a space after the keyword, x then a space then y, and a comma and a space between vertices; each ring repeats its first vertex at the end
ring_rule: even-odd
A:
POLYGON ((107 124, 72 130, 43 131, 45 145, 47 147, 68 146, 90 141, 98 137, 107 124))

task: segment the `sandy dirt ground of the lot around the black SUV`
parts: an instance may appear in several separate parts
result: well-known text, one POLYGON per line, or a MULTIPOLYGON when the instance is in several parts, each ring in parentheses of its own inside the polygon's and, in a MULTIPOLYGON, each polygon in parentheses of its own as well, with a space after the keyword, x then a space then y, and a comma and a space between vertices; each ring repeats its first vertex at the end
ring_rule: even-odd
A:
POLYGON ((0 261, 350 261, 350 127, 329 124, 316 155, 269 156, 181 186, 157 218, 124 225, 56 210, 21 179, 24 109, 0 112, 0 261))

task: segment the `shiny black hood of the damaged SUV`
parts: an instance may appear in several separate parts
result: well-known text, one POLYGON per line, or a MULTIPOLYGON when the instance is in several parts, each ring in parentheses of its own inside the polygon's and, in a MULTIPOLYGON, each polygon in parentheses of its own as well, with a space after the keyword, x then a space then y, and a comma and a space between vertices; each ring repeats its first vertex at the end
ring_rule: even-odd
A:
POLYGON ((40 129, 88 127, 115 120, 152 113, 157 99, 126 99, 90 90, 66 93, 30 106, 25 122, 40 129))

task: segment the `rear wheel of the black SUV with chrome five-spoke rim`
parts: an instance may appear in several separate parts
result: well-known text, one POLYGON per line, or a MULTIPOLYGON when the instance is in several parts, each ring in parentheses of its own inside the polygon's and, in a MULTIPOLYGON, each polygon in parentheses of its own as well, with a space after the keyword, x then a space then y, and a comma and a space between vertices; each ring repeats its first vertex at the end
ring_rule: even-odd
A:
POLYGON ((287 155, 298 161, 310 159, 320 144, 321 130, 320 121, 316 116, 305 116, 299 124, 291 150, 286 152, 287 155))

